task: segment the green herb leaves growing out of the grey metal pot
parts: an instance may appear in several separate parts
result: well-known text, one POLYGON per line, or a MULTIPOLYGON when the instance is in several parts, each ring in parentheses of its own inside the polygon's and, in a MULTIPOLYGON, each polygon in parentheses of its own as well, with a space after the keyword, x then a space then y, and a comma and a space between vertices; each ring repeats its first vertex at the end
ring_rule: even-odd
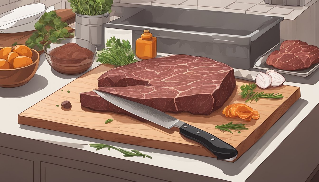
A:
POLYGON ((111 13, 113 0, 69 0, 72 11, 81 15, 102 15, 111 13))

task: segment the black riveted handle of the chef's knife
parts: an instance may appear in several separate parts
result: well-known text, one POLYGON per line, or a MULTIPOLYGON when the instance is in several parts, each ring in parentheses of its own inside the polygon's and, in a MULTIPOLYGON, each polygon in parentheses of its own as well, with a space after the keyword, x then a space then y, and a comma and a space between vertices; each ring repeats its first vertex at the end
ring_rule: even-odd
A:
POLYGON ((217 159, 230 159, 238 154, 237 150, 233 146, 220 140, 216 136, 198 129, 197 127, 193 127, 187 123, 180 127, 180 133, 186 138, 192 139, 204 145, 213 154, 215 154, 215 156, 217 156, 217 159))

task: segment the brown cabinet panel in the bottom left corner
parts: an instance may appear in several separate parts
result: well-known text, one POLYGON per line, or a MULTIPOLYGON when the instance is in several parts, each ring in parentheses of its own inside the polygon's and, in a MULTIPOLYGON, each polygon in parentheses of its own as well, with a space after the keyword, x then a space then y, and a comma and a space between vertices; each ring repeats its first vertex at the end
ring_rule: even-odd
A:
POLYGON ((0 154, 0 181, 32 182, 33 161, 0 154))

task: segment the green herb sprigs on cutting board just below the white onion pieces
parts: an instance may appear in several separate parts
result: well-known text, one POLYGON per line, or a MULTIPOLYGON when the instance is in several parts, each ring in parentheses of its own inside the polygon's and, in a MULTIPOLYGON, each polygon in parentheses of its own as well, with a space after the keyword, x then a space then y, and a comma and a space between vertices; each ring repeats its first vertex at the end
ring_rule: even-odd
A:
POLYGON ((252 102, 255 100, 256 102, 260 98, 283 98, 282 94, 279 93, 264 93, 262 92, 254 92, 254 90, 257 88, 257 85, 255 83, 253 84, 243 84, 240 87, 241 92, 239 95, 241 95, 241 98, 247 98, 245 102, 252 102))

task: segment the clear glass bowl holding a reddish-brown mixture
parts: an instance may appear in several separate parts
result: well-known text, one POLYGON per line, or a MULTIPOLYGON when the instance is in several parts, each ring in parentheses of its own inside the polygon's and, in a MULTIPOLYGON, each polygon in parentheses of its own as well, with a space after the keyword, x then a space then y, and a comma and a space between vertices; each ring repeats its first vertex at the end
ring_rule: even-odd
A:
MULTIPOLYGON (((43 50, 50 66, 57 72, 68 75, 79 74, 88 70, 92 66, 97 53, 97 48, 92 42, 78 38, 61 38, 55 43, 48 41, 43 45, 43 50), (67 43, 76 43, 80 47, 89 49, 93 54, 85 57, 82 56, 81 58, 61 58, 61 56, 56 57, 52 55, 53 49, 67 43)), ((60 50, 65 51, 67 54, 72 54, 72 49, 70 48, 64 48, 64 50, 60 48, 60 50)))

